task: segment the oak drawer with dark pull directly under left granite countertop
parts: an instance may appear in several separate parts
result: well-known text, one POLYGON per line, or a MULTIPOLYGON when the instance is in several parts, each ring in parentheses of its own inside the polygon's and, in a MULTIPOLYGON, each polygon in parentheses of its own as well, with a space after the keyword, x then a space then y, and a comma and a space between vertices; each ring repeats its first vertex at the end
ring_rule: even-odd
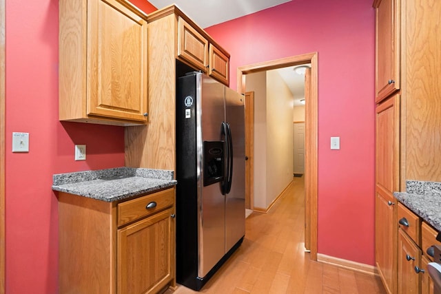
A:
POLYGON ((118 227, 174 204, 174 189, 167 189, 118 204, 118 227), (150 207, 147 207, 150 206, 150 207))

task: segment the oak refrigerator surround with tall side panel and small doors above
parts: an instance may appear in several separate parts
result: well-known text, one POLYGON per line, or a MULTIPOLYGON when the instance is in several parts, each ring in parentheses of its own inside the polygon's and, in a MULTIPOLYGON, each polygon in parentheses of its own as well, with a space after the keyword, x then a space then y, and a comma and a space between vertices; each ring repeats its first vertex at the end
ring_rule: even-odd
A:
POLYGON ((176 63, 228 85, 229 54, 176 6, 152 12, 147 22, 148 125, 125 129, 125 165, 174 170, 176 63))

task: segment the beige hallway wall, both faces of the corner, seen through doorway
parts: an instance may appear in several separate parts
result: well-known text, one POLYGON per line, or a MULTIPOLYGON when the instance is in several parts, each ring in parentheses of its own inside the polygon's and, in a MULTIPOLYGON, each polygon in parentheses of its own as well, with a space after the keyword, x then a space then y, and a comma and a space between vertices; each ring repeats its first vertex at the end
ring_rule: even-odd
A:
POLYGON ((254 207, 267 209, 293 174, 293 96, 275 71, 247 74, 254 92, 254 207))

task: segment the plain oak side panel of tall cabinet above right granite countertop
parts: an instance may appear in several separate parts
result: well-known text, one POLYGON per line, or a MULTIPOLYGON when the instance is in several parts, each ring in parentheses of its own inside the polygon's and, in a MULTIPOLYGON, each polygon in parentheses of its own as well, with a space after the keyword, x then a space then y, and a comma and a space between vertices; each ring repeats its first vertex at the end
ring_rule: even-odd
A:
POLYGON ((401 3, 401 189, 441 182, 441 1, 401 3))

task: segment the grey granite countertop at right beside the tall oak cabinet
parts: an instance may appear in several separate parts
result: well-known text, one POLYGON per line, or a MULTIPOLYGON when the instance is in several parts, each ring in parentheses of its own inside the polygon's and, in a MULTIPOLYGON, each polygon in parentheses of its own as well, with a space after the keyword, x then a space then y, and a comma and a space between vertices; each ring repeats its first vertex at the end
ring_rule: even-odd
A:
POLYGON ((441 231, 441 182, 407 180, 406 192, 394 192, 393 196, 441 231))

